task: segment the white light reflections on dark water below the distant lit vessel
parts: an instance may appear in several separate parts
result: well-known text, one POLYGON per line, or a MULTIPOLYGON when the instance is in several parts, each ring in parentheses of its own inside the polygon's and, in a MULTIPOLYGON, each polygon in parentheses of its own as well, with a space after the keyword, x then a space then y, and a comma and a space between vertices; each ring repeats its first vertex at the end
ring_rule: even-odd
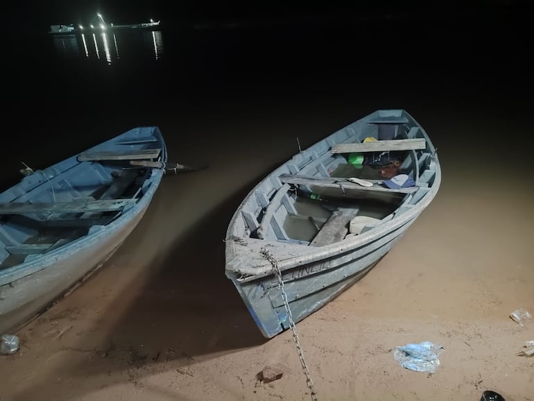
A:
POLYGON ((58 56, 105 60, 108 65, 121 56, 160 60, 164 54, 162 31, 62 35, 52 39, 58 56))

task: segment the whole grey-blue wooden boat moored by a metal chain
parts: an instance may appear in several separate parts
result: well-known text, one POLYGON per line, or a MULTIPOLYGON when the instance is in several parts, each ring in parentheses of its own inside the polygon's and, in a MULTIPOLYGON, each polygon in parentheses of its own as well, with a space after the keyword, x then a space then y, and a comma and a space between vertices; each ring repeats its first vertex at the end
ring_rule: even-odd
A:
POLYGON ((261 180, 225 238, 225 274, 261 333, 294 328, 362 278, 440 182, 436 148, 405 110, 377 110, 261 180))

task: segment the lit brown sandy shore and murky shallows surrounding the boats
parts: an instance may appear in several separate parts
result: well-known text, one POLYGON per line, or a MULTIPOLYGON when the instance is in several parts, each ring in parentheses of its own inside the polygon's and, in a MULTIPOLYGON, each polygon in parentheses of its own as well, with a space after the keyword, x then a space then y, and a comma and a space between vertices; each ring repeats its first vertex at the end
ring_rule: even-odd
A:
MULTIPOLYGON (((320 99, 162 115, 171 157, 208 168, 166 176, 114 257, 13 333, 21 348, 0 357, 0 400, 311 399, 291 331, 264 339, 225 278, 223 239, 246 192, 297 151, 295 137, 307 147, 389 106, 320 99), (268 365, 282 378, 260 382, 268 365)), ((527 149, 503 157, 531 127, 520 110, 470 110, 465 99, 395 100, 438 147, 442 187, 368 275, 298 323, 318 400, 479 400, 486 389, 533 400, 534 359, 517 352, 534 323, 509 315, 534 313, 534 190, 527 149), (393 357, 422 341, 444 348, 432 375, 393 357)))

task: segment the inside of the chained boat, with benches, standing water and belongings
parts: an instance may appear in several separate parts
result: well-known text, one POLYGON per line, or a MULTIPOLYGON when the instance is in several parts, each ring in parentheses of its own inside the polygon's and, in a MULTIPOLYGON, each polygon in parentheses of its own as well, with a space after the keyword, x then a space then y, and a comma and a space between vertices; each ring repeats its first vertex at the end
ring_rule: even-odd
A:
POLYGON ((436 176, 435 149, 426 134, 402 110, 381 110, 370 117, 273 171, 242 205, 236 237, 324 246, 390 221, 424 198, 436 176), (381 160, 373 163, 377 158, 381 160), (384 185, 398 174, 408 175, 415 185, 384 185))

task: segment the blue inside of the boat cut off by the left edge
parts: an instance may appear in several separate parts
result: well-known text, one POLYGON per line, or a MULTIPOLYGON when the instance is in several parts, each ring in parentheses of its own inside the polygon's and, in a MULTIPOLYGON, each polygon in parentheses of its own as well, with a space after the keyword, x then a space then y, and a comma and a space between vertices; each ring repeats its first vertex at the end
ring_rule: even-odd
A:
POLYGON ((0 269, 31 262, 101 230, 135 205, 151 184, 150 163, 162 152, 150 142, 128 142, 121 151, 81 153, 31 171, 3 192, 0 269))

